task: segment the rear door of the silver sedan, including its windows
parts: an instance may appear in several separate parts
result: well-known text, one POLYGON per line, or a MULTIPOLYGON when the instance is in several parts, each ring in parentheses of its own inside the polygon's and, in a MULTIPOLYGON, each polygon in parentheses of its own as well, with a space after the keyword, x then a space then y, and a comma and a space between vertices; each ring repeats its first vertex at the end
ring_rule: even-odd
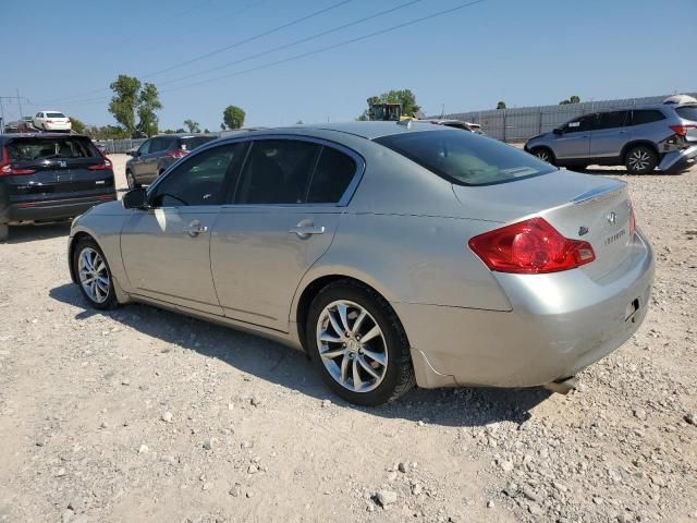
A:
POLYGON ((225 316, 286 332, 291 303, 329 248, 363 160, 335 145, 256 138, 213 227, 213 282, 225 316))

